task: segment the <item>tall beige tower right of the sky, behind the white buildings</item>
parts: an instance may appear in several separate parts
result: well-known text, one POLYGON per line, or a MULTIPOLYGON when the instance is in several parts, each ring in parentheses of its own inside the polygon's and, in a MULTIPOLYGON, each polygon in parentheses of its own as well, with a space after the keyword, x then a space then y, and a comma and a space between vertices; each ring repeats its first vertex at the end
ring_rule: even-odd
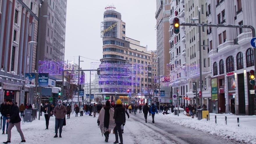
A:
POLYGON ((156 0, 156 3, 157 11, 155 13, 155 18, 157 19, 157 56, 160 57, 160 75, 166 76, 166 64, 169 64, 170 62, 170 33, 168 32, 168 30, 170 28, 169 18, 171 10, 171 0, 156 0))

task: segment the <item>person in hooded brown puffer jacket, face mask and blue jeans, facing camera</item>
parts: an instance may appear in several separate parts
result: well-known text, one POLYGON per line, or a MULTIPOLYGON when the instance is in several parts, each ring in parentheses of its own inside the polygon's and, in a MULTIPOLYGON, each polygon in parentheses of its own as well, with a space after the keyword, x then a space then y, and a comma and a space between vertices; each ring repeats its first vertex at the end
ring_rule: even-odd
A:
POLYGON ((60 132, 59 137, 61 138, 63 121, 64 121, 65 115, 67 114, 67 109, 65 106, 62 105, 61 100, 58 100, 58 105, 55 106, 55 108, 53 110, 53 114, 55 116, 55 136, 54 136, 54 138, 58 137, 58 127, 59 127, 59 132, 60 132))

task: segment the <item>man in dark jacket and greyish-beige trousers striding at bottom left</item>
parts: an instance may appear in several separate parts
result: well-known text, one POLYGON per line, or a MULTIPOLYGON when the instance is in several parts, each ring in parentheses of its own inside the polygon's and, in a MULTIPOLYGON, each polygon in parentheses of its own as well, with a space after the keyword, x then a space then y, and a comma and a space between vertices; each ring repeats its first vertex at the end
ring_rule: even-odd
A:
POLYGON ((21 137, 21 143, 25 143, 26 140, 24 138, 24 135, 22 133, 22 130, 20 128, 20 122, 21 118, 19 117, 19 107, 15 104, 13 104, 11 99, 6 99, 6 104, 10 107, 10 114, 7 115, 9 118, 6 120, 6 122, 10 122, 8 126, 8 136, 7 136, 7 141, 3 143, 11 143, 11 130, 15 126, 17 131, 19 132, 19 135, 21 137))

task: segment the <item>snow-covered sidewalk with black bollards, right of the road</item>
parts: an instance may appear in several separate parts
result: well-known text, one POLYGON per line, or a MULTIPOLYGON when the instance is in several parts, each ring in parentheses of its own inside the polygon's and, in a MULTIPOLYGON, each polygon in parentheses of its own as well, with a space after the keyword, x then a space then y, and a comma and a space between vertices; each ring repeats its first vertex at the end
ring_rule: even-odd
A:
POLYGON ((256 115, 242 116, 231 114, 216 114, 210 113, 210 120, 197 120, 180 113, 179 116, 159 113, 159 117, 163 121, 172 122, 192 129, 205 131, 209 134, 221 136, 226 139, 231 139, 237 142, 256 143, 256 115), (215 124, 215 115, 217 124, 215 124), (227 125, 225 125, 225 116, 227 116, 227 125), (237 118, 240 121, 240 127, 237 125, 237 118))

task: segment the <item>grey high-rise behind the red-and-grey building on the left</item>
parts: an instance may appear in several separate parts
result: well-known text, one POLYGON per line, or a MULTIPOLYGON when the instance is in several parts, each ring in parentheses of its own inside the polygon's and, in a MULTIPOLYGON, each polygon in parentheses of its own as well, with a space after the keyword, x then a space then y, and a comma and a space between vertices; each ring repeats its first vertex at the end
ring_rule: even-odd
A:
POLYGON ((40 9, 39 61, 64 61, 67 0, 44 0, 40 9), (49 15, 49 17, 43 17, 49 15))

